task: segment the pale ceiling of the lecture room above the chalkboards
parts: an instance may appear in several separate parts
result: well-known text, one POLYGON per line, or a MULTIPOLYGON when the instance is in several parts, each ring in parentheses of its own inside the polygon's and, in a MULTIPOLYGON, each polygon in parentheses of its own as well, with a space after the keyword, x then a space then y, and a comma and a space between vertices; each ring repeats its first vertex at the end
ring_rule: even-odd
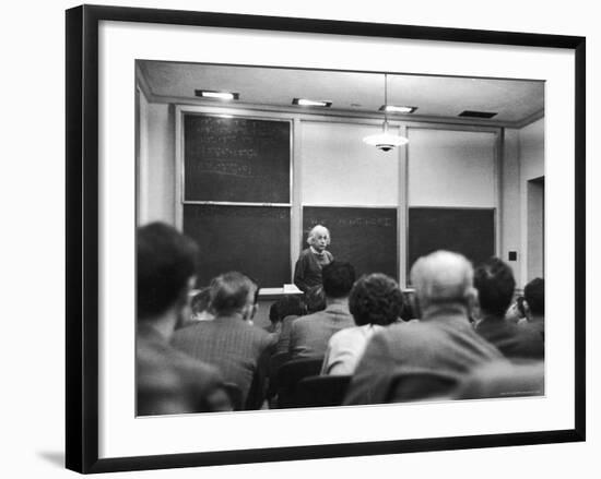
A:
MULTIPOLYGON (((215 105, 196 89, 239 94, 236 105, 323 112, 322 108, 294 107, 293 98, 332 101, 330 112, 381 115, 384 73, 235 67, 163 61, 139 61, 138 75, 151 101, 215 105)), ((522 125, 542 117, 544 82, 388 74, 388 104, 417 107, 411 115, 393 117, 461 120, 478 124, 522 125), (460 119, 463 110, 496 112, 490 120, 460 119)), ((391 116, 392 117, 392 116, 391 116)))

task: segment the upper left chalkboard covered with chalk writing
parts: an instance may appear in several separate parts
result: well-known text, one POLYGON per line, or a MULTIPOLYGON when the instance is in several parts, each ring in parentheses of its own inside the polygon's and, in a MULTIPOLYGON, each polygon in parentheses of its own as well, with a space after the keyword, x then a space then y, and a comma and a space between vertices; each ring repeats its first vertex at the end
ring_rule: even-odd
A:
POLYGON ((186 201, 290 203, 288 121, 184 117, 186 201))

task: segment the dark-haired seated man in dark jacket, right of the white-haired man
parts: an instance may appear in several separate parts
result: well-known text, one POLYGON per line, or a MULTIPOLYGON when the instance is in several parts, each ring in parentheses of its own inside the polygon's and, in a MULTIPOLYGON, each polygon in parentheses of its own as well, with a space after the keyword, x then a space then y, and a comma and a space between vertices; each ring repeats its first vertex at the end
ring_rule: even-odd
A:
POLYGON ((476 333, 508 359, 542 359, 542 336, 505 319, 516 287, 511 268, 498 258, 492 258, 475 270, 474 286, 480 304, 476 333))

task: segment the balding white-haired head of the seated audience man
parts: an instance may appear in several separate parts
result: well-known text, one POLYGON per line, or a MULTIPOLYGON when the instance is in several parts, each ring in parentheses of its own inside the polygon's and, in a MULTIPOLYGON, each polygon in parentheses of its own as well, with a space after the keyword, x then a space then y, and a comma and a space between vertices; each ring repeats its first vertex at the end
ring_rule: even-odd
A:
POLYGON ((449 251, 422 256, 411 268, 411 284, 422 309, 436 303, 468 304, 474 296, 472 280, 471 263, 449 251))

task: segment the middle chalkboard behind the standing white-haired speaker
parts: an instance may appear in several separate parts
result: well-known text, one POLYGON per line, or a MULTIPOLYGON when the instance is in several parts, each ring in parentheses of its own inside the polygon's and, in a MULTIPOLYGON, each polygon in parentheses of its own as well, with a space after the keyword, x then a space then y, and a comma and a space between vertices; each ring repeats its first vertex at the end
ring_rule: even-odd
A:
POLYGON ((385 273, 398 280, 397 208, 305 206, 303 244, 315 225, 330 230, 328 250, 334 260, 349 261, 357 277, 385 273))

